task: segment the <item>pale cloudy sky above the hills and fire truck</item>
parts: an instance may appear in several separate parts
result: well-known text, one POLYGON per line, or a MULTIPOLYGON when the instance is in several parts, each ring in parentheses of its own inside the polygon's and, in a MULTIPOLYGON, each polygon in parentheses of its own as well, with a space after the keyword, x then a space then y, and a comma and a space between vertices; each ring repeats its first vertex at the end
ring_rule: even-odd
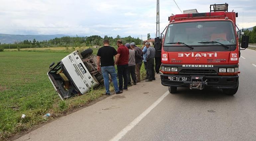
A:
MULTIPOLYGON (((181 10, 208 12, 210 4, 227 2, 239 13, 238 26, 256 25, 256 0, 176 0, 181 10), (244 22, 243 22, 244 21, 244 22)), ((168 16, 181 14, 173 0, 160 0, 161 31, 168 16)), ((131 35, 155 37, 156 0, 1 0, 0 33, 131 35)))

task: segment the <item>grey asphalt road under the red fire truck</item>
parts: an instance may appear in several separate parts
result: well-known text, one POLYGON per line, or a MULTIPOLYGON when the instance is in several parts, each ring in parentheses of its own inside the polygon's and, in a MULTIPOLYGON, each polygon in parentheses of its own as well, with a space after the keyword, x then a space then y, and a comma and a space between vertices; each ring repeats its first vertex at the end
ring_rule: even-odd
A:
POLYGON ((234 96, 188 88, 170 94, 157 75, 17 140, 256 140, 256 51, 241 55, 234 96))

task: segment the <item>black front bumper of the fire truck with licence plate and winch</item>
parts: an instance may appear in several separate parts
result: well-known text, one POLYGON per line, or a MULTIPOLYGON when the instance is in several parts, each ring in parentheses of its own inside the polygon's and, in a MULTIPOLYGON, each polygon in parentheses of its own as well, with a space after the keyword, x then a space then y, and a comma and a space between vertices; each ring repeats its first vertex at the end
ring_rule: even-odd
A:
POLYGON ((190 89, 234 89, 238 87, 239 76, 207 76, 161 74, 164 86, 189 87, 190 89))

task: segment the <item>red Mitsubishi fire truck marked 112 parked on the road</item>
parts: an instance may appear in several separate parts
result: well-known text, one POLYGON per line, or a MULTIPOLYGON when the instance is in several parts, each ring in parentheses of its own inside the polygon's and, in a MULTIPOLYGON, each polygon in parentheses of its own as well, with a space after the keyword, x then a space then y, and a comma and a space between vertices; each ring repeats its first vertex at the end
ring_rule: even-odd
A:
POLYGON ((168 17, 170 23, 158 48, 162 50, 162 85, 170 93, 189 87, 222 89, 234 95, 240 50, 248 47, 249 40, 236 32, 238 13, 228 12, 227 3, 210 5, 208 13, 184 13, 168 17))

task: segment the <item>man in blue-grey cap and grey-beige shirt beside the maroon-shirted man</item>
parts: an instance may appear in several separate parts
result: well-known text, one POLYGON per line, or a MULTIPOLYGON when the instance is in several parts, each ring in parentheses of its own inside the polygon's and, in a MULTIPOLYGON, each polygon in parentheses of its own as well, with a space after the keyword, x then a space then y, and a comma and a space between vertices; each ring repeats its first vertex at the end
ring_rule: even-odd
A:
POLYGON ((131 85, 131 76, 132 76, 133 84, 136 85, 135 55, 137 55, 138 52, 137 50, 133 50, 129 43, 126 43, 125 46, 129 49, 129 63, 127 68, 128 86, 131 85))

